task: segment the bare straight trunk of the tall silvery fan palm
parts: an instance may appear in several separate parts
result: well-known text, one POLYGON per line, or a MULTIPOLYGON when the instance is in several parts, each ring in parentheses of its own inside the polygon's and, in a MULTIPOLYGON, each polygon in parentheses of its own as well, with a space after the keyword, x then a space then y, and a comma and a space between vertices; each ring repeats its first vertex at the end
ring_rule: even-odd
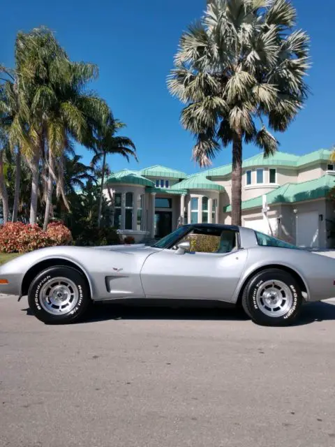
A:
POLYGON ((234 133, 232 140, 232 225, 241 226, 242 135, 234 133))

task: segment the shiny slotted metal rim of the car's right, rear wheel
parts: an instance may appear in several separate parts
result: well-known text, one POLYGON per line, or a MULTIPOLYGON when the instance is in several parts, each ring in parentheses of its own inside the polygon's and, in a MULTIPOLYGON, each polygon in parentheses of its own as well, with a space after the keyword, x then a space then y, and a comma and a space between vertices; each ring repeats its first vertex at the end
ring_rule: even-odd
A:
POLYGON ((283 281, 265 281, 257 291, 256 302, 263 314, 280 317, 291 309, 293 295, 283 281))

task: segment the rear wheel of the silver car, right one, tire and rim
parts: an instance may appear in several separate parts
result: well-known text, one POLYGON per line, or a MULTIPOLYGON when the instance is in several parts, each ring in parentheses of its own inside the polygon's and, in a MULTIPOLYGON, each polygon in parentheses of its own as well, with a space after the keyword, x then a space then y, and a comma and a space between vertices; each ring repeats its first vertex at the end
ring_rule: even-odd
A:
POLYGON ((299 314, 303 297, 292 274, 279 269, 262 270, 249 279, 242 306, 260 325, 290 325, 299 314))

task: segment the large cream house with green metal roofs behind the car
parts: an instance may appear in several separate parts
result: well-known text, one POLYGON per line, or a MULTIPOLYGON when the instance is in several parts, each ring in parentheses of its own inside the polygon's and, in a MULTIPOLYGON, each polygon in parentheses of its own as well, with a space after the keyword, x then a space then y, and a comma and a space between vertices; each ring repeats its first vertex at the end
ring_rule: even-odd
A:
MULTIPOLYGON (((244 160, 242 225, 301 247, 330 247, 335 218, 330 154, 327 149, 303 156, 278 151, 244 160)), ((194 175, 165 166, 114 173, 105 187, 105 195, 114 198, 114 226, 140 241, 168 235, 178 223, 230 223, 231 174, 231 164, 194 175)))

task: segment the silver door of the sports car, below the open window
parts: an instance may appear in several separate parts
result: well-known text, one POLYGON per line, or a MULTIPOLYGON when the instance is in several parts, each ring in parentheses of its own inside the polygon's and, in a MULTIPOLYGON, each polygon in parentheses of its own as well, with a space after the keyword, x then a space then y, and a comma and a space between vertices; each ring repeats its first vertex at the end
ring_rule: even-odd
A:
POLYGON ((244 270, 248 251, 228 254, 165 249, 146 259, 141 270, 147 298, 231 301, 244 270))

